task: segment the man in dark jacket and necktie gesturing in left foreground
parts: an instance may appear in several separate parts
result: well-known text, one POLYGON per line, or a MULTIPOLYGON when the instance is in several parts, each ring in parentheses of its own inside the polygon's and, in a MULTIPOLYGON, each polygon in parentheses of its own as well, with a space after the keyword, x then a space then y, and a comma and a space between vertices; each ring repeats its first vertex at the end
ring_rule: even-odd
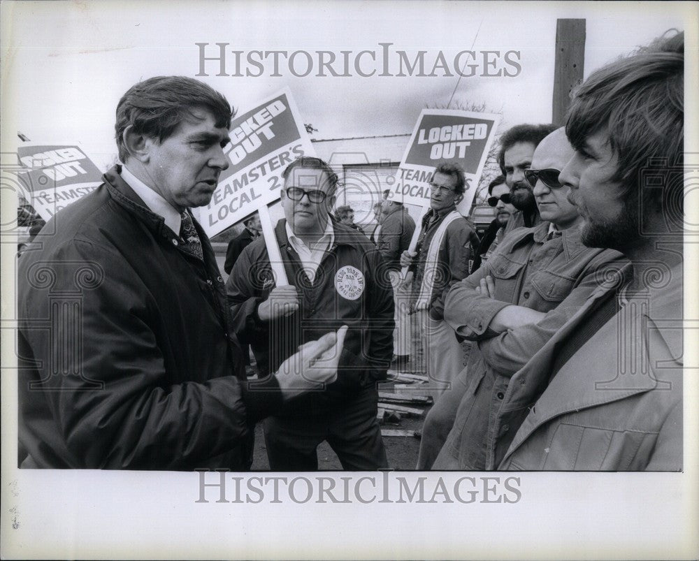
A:
POLYGON ((310 368, 331 335, 266 391, 243 381, 223 279, 188 210, 229 166, 230 123, 224 96, 192 78, 131 87, 117 106, 124 165, 22 256, 21 467, 245 469, 252 423, 335 377, 310 368))

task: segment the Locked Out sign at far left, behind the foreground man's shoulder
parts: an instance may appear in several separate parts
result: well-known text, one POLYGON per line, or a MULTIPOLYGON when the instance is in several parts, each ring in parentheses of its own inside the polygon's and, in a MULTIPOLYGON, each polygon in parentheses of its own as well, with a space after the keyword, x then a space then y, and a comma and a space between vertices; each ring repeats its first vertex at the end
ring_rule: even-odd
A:
POLYGON ((25 144, 17 147, 22 195, 44 219, 94 191, 102 174, 77 145, 25 144))

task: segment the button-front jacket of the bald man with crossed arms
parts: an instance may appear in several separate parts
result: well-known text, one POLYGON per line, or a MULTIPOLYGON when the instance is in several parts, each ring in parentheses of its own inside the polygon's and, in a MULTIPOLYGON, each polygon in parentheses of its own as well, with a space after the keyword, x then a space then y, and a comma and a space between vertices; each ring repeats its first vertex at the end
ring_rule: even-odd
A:
POLYGON ((454 427, 434 469, 485 469, 496 414, 514 372, 523 367, 565 321, 577 312, 608 271, 620 270, 624 256, 582 245, 579 228, 548 239, 549 223, 519 228, 492 256, 449 291, 445 321, 460 337, 477 341, 469 356, 464 395, 454 427), (475 290, 490 275, 495 298, 475 290), (514 304, 546 312, 535 324, 495 333, 496 314, 514 304))

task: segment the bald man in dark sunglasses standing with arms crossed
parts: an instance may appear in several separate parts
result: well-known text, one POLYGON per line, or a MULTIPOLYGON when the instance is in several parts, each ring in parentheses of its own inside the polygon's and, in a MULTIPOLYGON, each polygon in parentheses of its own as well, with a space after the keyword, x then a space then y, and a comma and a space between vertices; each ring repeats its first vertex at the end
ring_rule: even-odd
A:
POLYGON ((582 245, 581 218, 568 201, 568 187, 558 180, 572 154, 563 129, 541 141, 524 175, 542 223, 512 231, 479 270, 447 294, 445 321, 475 344, 456 391, 440 399, 425 421, 421 469, 486 467, 489 423, 510 377, 621 258, 582 245))

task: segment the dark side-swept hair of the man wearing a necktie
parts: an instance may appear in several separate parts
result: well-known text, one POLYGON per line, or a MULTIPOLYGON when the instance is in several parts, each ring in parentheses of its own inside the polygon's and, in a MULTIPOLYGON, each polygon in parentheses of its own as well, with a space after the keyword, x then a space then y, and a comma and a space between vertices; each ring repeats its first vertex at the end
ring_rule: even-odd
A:
POLYGON ((129 152, 124 146, 124 131, 128 126, 134 132, 159 142, 170 137, 193 108, 211 112, 216 126, 231 126, 233 110, 226 98, 215 89, 186 76, 156 76, 131 86, 117 105, 115 124, 119 159, 127 161, 129 152))

